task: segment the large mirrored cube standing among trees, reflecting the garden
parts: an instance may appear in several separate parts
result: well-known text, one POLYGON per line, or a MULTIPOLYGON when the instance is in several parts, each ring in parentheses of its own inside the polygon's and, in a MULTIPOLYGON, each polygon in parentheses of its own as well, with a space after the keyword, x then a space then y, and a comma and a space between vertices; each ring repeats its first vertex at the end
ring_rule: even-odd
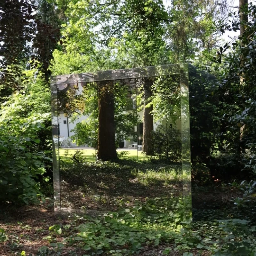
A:
POLYGON ((186 63, 52 76, 55 212, 150 200, 167 209, 180 199, 189 217, 221 201, 211 160, 217 89, 186 63))

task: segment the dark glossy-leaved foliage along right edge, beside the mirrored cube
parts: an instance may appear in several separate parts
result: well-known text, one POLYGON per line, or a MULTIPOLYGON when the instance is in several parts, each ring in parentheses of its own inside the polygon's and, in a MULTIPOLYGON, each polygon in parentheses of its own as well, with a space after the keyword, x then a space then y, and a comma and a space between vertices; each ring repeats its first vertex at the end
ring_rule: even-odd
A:
MULTIPOLYGON (((242 169, 242 178, 254 179, 254 158, 255 158, 255 23, 256 7, 249 4, 245 8, 248 13, 248 21, 245 32, 238 37, 239 40, 232 40, 220 47, 219 54, 222 83, 220 86, 220 117, 221 117, 221 140, 222 152, 226 155, 233 155, 233 165, 238 170, 242 169), (248 8, 247 8, 248 7, 248 8), (228 53, 227 49, 231 48, 228 53), (223 50, 224 49, 224 50, 223 50), (226 54, 224 54, 224 52, 226 54), (221 59, 222 57, 222 59, 221 59), (240 167, 240 168, 239 168, 240 167)), ((232 17, 231 24, 222 21, 222 28, 236 31, 239 29, 239 12, 229 14, 232 17)), ((244 23, 244 21, 243 21, 244 23)))

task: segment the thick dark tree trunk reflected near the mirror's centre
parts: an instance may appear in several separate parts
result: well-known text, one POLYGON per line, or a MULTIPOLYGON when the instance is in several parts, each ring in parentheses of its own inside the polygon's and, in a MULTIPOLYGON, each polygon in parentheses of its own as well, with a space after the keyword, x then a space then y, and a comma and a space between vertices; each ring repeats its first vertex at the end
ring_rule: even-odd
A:
POLYGON ((117 160, 115 139, 115 105, 113 82, 100 82, 98 85, 99 132, 98 159, 117 160))

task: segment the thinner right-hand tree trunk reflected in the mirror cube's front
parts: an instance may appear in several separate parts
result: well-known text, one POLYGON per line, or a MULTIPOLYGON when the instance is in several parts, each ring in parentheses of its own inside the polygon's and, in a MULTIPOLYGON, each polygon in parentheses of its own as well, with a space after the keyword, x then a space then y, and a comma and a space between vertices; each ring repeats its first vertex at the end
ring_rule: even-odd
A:
POLYGON ((153 106, 146 107, 150 103, 150 97, 152 97, 153 93, 151 90, 151 86, 153 81, 150 78, 145 78, 144 80, 144 125, 143 125, 143 142, 142 142, 142 151, 146 153, 146 155, 153 154, 152 148, 152 132, 154 130, 154 122, 153 122, 153 114, 150 113, 153 111, 153 106))

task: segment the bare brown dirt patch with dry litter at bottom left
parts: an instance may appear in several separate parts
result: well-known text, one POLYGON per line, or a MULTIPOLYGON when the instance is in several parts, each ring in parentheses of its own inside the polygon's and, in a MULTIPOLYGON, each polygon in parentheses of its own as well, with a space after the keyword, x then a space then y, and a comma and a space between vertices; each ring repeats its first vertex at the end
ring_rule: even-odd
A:
MULTIPOLYGON (((4 243, 0 242, 0 255, 21 255, 22 251, 26 252, 26 256, 36 255, 40 247, 49 246, 49 241, 44 239, 49 235, 52 236, 49 227, 54 224, 68 223, 68 220, 55 217, 52 203, 22 208, 5 208, 0 214, 0 228, 5 230, 8 240, 4 243)), ((56 240, 56 242, 61 241, 56 240)), ((61 255, 69 255, 68 249, 63 250, 61 255)), ((77 255, 83 254, 78 252, 77 255)))

